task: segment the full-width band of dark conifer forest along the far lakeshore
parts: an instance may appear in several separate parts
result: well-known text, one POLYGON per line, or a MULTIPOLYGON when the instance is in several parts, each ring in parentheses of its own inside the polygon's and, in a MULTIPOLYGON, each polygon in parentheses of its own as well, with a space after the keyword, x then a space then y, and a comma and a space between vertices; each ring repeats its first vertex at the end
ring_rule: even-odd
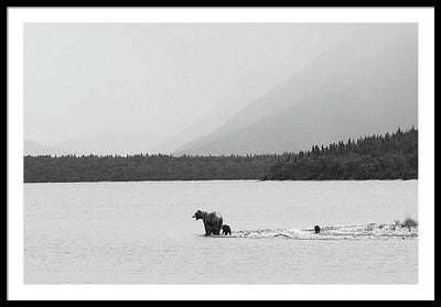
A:
POLYGON ((347 140, 310 151, 228 156, 24 156, 25 183, 136 180, 324 180, 418 178, 418 130, 347 140))

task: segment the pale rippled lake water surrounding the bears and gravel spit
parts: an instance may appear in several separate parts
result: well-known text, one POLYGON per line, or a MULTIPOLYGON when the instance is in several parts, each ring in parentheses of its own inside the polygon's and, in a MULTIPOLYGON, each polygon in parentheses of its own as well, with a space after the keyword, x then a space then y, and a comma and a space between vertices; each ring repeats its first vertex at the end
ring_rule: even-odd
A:
POLYGON ((204 237, 198 209, 220 212, 233 232, 394 223, 418 218, 418 182, 25 184, 24 282, 418 282, 418 239, 204 237))

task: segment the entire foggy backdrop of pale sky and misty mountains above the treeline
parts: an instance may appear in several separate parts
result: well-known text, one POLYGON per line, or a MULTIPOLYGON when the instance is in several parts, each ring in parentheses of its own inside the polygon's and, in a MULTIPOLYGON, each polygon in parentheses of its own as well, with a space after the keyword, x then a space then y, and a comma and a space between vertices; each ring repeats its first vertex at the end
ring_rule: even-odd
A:
POLYGON ((295 152, 418 123, 417 24, 23 30, 25 154, 295 152))

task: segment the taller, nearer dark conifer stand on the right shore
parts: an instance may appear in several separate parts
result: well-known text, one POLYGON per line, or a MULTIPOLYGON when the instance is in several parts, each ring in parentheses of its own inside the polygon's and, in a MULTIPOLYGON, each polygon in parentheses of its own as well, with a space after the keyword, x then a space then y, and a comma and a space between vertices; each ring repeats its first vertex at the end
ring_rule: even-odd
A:
POLYGON ((347 140, 308 152, 283 154, 261 179, 416 179, 418 130, 347 140))

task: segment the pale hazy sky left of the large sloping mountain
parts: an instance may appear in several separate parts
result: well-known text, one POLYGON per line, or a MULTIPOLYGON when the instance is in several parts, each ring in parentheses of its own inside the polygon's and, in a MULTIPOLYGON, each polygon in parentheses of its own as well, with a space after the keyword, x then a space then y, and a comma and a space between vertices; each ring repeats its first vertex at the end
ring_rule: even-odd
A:
POLYGON ((153 152, 218 128, 351 24, 24 26, 24 138, 72 153, 153 152), (169 144, 170 145, 170 144, 169 144))

